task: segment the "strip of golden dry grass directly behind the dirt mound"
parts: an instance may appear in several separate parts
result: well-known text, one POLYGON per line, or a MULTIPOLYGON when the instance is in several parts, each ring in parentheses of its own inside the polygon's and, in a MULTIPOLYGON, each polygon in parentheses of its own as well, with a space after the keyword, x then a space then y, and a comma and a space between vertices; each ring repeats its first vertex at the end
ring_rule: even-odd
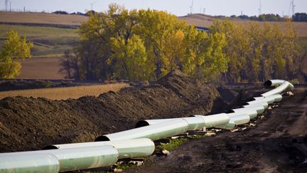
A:
POLYGON ((118 91, 126 88, 127 83, 114 83, 105 85, 87 85, 67 88, 43 88, 31 90, 10 90, 0 92, 0 99, 6 97, 23 96, 26 98, 48 98, 51 100, 67 100, 69 98, 80 98, 85 95, 98 96, 108 91, 118 91))

